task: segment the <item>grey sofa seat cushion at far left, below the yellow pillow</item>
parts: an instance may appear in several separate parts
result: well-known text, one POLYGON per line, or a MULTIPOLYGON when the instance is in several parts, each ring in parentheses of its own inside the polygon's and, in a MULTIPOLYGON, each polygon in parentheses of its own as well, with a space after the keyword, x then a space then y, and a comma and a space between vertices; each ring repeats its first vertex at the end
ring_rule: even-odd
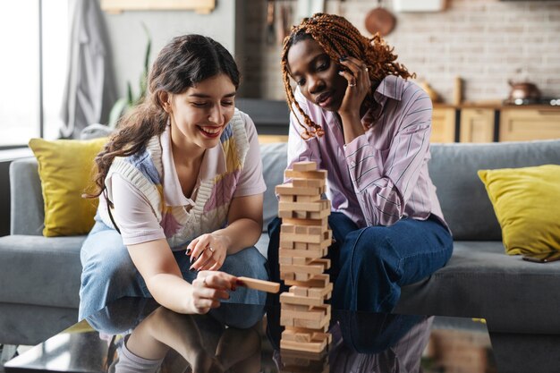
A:
POLYGON ((0 300, 77 308, 81 243, 86 236, 0 237, 0 300))

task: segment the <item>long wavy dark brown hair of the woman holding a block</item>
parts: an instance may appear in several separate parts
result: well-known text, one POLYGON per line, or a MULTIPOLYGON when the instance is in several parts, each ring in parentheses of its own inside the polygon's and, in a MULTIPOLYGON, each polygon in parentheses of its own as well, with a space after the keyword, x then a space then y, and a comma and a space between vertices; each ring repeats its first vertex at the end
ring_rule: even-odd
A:
POLYGON ((140 152, 150 138, 165 131, 169 114, 164 110, 162 93, 181 94, 221 73, 231 79, 235 89, 239 88, 241 75, 233 56, 212 38, 184 35, 173 38, 163 47, 149 72, 148 96, 123 116, 117 124, 120 130, 95 158, 97 191, 85 197, 98 197, 105 190, 106 174, 115 157, 129 157, 140 152))

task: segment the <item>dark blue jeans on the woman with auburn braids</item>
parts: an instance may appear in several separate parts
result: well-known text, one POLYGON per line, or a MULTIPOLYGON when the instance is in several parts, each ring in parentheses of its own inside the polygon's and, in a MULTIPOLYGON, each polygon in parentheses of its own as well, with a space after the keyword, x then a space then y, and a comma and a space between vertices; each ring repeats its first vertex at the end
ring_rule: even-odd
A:
MULTIPOLYGON (((268 225, 269 274, 278 282, 281 224, 276 218, 268 225)), ((453 252, 451 233, 433 216, 358 228, 344 214, 331 213, 328 224, 336 241, 328 250, 335 309, 389 313, 399 301, 402 286, 444 267, 453 252)))

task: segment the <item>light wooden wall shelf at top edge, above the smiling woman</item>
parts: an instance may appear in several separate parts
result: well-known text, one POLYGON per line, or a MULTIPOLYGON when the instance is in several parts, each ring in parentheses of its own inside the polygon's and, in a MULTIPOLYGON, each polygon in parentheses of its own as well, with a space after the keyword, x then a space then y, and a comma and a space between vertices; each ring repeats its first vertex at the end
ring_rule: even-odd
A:
POLYGON ((101 9, 107 13, 123 11, 195 11, 211 13, 216 0, 101 0, 101 9))

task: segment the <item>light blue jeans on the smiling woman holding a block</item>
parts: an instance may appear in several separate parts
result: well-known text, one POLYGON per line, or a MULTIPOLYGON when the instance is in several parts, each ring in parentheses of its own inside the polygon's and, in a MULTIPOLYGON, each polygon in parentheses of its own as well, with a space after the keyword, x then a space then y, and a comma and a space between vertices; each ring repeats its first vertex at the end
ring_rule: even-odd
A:
MULTIPOLYGON (((97 220, 89 232, 81 247, 80 258, 80 320, 122 297, 151 297, 123 244, 123 237, 103 222, 97 220)), ((176 250, 174 258, 182 277, 191 283, 197 277, 197 272, 189 271, 190 257, 185 254, 185 250, 176 250)), ((250 247, 228 255, 220 270, 233 276, 267 280, 266 261, 259 250, 250 247)), ((229 302, 245 304, 264 304, 267 298, 264 292, 244 287, 238 287, 230 295, 229 302)))

